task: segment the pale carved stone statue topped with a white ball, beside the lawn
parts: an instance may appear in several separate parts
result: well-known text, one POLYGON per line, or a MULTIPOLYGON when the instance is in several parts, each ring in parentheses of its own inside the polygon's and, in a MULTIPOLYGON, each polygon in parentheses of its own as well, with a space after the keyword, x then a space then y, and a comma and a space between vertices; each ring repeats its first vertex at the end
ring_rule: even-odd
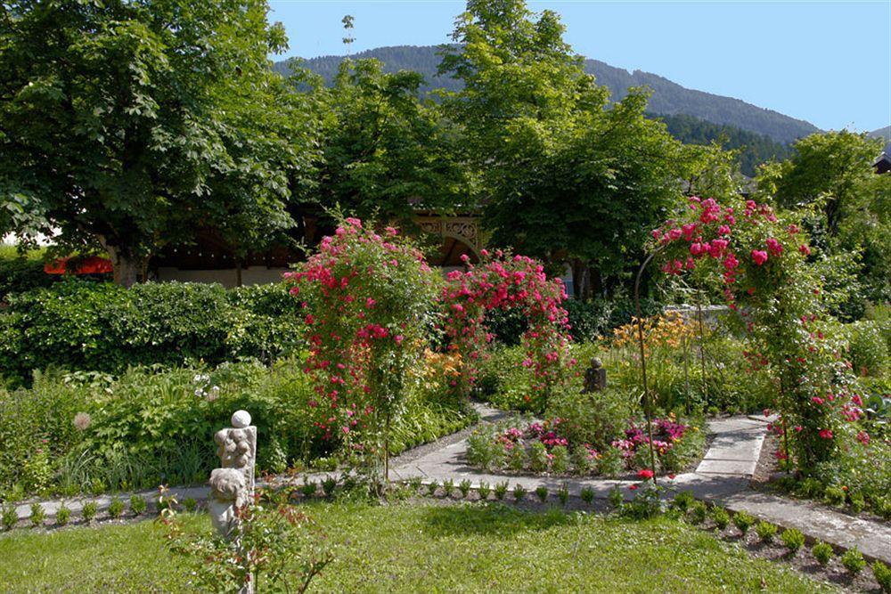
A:
POLYGON ((210 473, 210 521, 220 536, 232 537, 238 525, 236 510, 254 495, 254 464, 257 460, 257 427, 250 425, 248 411, 236 411, 232 428, 214 435, 222 468, 210 473))

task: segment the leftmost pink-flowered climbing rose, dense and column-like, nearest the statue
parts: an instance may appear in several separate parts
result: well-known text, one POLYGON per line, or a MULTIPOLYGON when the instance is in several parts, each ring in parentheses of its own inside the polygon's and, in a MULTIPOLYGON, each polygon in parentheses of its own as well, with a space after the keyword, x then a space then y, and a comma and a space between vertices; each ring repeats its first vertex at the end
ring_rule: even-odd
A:
POLYGON ((306 313, 317 431, 386 467, 389 428, 413 377, 406 371, 423 364, 435 323, 440 274, 396 229, 347 218, 286 277, 306 313))

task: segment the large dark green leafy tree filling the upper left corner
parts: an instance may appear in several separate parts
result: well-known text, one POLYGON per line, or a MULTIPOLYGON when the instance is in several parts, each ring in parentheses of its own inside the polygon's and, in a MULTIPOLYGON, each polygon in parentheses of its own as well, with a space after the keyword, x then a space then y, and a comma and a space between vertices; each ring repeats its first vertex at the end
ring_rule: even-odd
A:
POLYGON ((265 0, 4 3, 3 231, 101 246, 130 285, 196 226, 233 212, 239 232, 283 224, 285 172, 308 166, 310 139, 293 110, 276 113, 289 91, 267 55, 286 38, 267 12, 265 0))

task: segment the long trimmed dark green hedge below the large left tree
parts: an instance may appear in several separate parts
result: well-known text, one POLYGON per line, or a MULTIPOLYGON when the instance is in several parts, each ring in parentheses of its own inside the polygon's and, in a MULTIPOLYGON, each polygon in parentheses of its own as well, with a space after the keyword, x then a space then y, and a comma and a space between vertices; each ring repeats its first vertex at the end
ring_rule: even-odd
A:
POLYGON ((281 283, 227 291, 62 281, 8 303, 0 313, 0 375, 19 380, 51 366, 119 373, 131 365, 269 362, 302 346, 300 306, 281 283))

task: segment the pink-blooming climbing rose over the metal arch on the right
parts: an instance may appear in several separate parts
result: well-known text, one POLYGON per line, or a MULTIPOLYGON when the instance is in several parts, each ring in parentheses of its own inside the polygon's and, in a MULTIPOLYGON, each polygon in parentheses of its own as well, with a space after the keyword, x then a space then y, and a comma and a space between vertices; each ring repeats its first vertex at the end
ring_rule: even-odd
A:
POLYGON ((847 447, 862 402, 844 346, 827 338, 835 321, 797 224, 754 200, 722 205, 693 197, 682 216, 652 237, 664 273, 721 287, 733 321, 746 332, 749 361, 772 373, 779 427, 789 443, 781 456, 791 455, 809 474, 847 447))

